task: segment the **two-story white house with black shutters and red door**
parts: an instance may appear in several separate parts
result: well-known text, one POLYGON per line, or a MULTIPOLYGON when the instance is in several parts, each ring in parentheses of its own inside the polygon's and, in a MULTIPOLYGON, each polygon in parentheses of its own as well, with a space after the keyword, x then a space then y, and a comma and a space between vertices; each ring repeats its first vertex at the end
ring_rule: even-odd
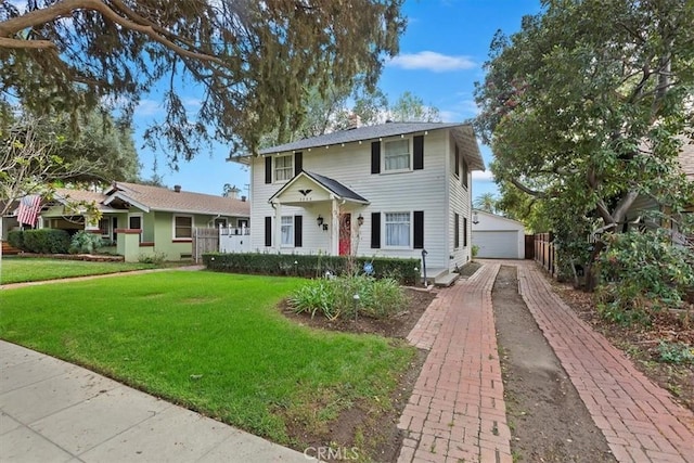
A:
POLYGON ((470 125, 386 123, 232 156, 250 168, 252 248, 421 259, 428 275, 471 259, 470 125))

